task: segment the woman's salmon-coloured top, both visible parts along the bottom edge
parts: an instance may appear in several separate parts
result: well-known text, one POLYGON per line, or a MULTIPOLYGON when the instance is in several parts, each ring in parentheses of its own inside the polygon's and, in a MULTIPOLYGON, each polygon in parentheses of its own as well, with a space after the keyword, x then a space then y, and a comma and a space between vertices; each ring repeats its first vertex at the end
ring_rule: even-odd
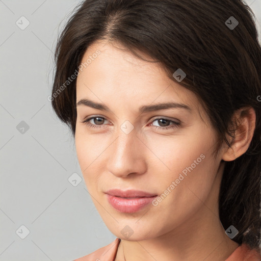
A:
MULTIPOLYGON (((111 244, 73 261, 114 261, 119 243, 120 239, 116 238, 111 244)), ((261 256, 257 250, 242 244, 224 261, 261 261, 261 256)))

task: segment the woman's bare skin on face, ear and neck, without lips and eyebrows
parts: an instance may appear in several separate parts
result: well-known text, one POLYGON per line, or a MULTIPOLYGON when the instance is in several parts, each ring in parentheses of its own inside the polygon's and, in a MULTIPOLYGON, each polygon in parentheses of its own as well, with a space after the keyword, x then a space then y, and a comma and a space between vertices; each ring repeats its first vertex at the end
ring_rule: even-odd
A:
POLYGON ((247 150, 255 126, 254 110, 242 116, 232 148, 224 145, 215 159, 215 131, 191 91, 170 80, 158 63, 142 61, 116 43, 95 42, 83 61, 97 49, 101 54, 77 77, 76 102, 88 98, 110 111, 77 106, 75 146, 97 211, 121 238, 115 260, 225 260, 238 244, 227 237, 219 220, 221 160, 232 161, 247 150), (180 108, 138 112, 140 106, 170 101, 189 106, 191 112, 180 108), (91 116, 104 118, 89 122, 100 128, 83 123, 91 116), (156 118, 181 125, 164 130, 173 122, 163 125, 156 118), (129 134, 120 128, 127 120, 134 127, 129 134), (109 189, 161 195, 201 154, 204 159, 158 205, 126 214, 109 204, 105 194, 109 189), (126 225, 134 232, 129 238, 121 233, 126 225))

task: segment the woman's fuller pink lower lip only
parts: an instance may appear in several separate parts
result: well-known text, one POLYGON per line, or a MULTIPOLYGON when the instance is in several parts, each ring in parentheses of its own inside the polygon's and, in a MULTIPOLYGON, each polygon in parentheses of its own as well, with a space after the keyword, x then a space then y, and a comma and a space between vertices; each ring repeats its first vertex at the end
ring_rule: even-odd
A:
POLYGON ((119 212, 122 213, 134 213, 141 210, 143 207, 148 205, 155 199, 157 196, 154 197, 143 197, 143 198, 121 198, 116 196, 107 195, 107 199, 109 203, 119 212))

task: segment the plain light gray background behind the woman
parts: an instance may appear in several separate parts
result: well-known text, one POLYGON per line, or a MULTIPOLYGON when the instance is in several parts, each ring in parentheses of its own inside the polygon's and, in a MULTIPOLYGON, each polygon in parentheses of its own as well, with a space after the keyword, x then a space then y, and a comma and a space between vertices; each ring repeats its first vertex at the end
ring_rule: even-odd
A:
MULTIPOLYGON (((79 3, 0 0, 0 261, 69 261, 116 238, 87 191, 69 129, 47 99, 58 32, 79 3)), ((261 0, 246 3, 260 32, 261 0)))

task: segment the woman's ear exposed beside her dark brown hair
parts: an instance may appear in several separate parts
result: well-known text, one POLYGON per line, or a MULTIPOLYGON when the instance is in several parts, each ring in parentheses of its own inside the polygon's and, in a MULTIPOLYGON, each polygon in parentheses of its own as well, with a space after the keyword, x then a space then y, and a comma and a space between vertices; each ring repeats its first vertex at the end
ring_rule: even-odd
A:
POLYGON ((234 138, 230 141, 231 147, 227 146, 224 151, 222 160, 236 160, 247 151, 254 135, 255 121, 255 110, 252 107, 241 108, 233 114, 234 138))

